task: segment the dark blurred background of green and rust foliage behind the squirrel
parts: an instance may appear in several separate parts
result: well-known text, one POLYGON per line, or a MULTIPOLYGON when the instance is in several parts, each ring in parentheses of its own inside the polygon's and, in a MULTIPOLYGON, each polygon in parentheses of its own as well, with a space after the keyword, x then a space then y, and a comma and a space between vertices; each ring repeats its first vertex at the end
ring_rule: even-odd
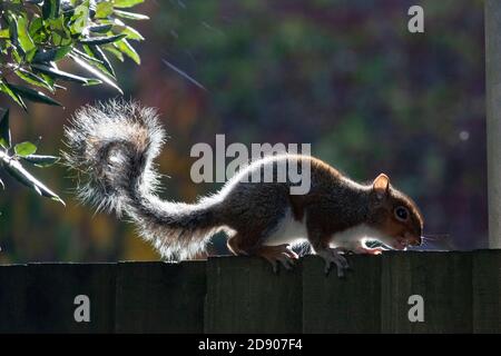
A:
MULTIPOLYGON (((157 107, 171 137, 158 159, 164 197, 193 201, 218 186, 189 178, 197 142, 308 142, 356 180, 386 172, 421 207, 440 244, 487 246, 484 40, 481 1, 147 0, 137 9, 141 66, 117 63, 127 98, 157 107), (407 31, 424 8, 425 32, 407 31), (169 61, 206 90, 168 68, 169 61)), ((16 141, 62 148, 79 106, 116 97, 70 86, 66 109, 11 106, 16 141)), ((2 106, 7 98, 0 97, 2 106)), ((32 168, 37 170, 37 168, 32 168)), ((92 216, 75 200, 63 167, 37 171, 67 207, 2 176, 0 263, 157 259, 134 228, 92 216)))

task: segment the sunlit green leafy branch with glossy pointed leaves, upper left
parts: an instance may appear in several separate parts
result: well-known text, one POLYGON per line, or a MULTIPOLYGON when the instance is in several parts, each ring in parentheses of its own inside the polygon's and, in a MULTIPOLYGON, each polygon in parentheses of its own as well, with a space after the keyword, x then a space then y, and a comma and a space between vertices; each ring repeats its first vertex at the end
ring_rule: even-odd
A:
MULTIPOLYGON (((136 63, 129 40, 144 40, 127 20, 146 20, 130 12, 144 0, 2 0, 0 2, 0 92, 28 111, 26 101, 62 106, 53 96, 61 82, 106 83, 121 93, 109 58, 136 63), (59 68, 72 61, 87 75, 59 68)), ((21 162, 47 167, 57 157, 35 155, 37 146, 12 146, 9 111, 0 111, 0 168, 21 184, 51 199, 62 200, 29 174, 21 162)), ((0 180, 0 186, 3 182, 0 180)))

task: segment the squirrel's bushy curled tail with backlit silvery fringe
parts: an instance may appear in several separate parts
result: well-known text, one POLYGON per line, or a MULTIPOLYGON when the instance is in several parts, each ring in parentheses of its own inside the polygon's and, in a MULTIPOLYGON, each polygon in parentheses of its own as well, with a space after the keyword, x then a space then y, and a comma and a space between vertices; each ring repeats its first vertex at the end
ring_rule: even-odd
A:
POLYGON ((156 195, 153 160, 165 140, 157 113, 135 102, 111 100, 80 108, 65 129, 66 164, 77 172, 77 194, 97 210, 131 219, 163 257, 203 251, 218 227, 217 199, 164 201, 156 195))

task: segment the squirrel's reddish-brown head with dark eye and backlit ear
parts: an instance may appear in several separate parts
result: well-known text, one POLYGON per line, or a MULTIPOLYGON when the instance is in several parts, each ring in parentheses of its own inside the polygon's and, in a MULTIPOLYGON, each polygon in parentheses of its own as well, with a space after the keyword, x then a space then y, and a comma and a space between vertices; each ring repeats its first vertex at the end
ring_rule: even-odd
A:
POLYGON ((381 233, 383 244, 394 249, 421 245, 421 212, 406 195, 390 185, 386 175, 374 179, 370 196, 369 224, 381 233))

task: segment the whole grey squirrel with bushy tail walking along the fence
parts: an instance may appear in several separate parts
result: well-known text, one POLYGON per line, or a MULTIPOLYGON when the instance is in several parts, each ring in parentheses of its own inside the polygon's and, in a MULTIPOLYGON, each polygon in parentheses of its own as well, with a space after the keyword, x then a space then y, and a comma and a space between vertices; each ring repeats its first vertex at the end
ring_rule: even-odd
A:
POLYGON ((348 268, 345 251, 379 254, 367 238, 393 249, 421 245, 423 218, 416 205, 379 175, 357 184, 320 159, 283 155, 249 165, 245 174, 281 160, 311 167, 311 189, 291 195, 289 182, 245 182, 233 177, 218 192, 195 204, 161 200, 156 195, 154 159, 165 132, 157 112, 135 102, 111 100, 77 110, 65 129, 67 165, 77 171, 78 196, 98 210, 125 215, 166 259, 204 251, 210 236, 225 229, 235 255, 261 256, 275 268, 298 258, 292 244, 307 240, 313 251, 348 268))

